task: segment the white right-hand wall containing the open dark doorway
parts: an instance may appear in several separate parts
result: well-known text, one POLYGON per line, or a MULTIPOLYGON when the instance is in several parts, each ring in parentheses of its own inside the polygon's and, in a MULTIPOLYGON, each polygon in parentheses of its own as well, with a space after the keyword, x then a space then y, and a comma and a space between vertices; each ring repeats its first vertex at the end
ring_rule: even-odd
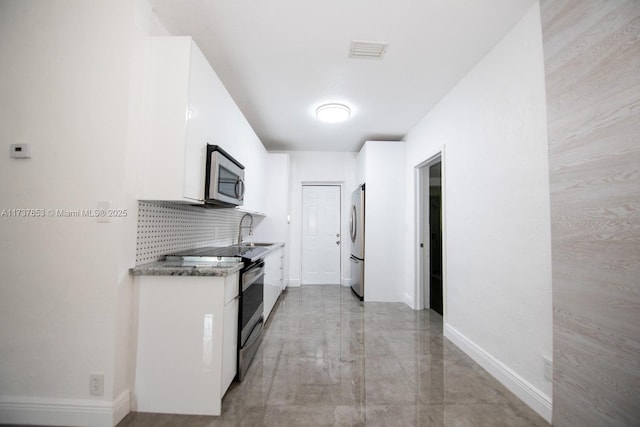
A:
POLYGON ((406 294, 416 294, 414 168, 444 146, 445 334, 549 418, 542 362, 552 355, 549 181, 537 3, 405 140, 406 294))

